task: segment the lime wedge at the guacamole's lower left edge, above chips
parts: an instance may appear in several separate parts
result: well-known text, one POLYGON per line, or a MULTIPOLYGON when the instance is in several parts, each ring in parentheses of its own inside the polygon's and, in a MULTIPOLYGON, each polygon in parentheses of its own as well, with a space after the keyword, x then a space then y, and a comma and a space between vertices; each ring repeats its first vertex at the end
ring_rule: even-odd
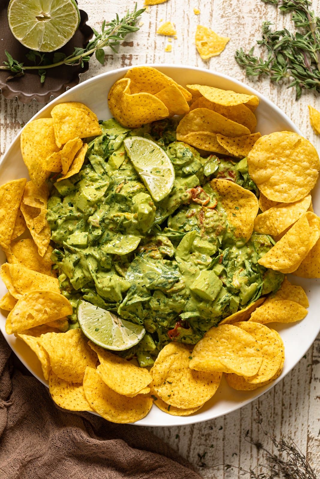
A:
POLYGON ((80 300, 77 317, 83 334, 92 342, 112 351, 124 351, 142 340, 145 329, 120 319, 105 309, 80 300))

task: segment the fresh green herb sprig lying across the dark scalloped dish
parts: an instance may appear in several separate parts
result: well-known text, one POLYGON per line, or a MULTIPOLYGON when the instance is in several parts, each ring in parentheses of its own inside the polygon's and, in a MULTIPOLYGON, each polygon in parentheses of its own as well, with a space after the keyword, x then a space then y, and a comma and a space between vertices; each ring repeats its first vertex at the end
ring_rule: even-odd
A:
POLYGON ((10 53, 5 51, 8 61, 4 61, 4 66, 0 66, 1 70, 8 70, 12 72, 13 77, 19 77, 24 75, 26 70, 38 70, 40 75, 40 81, 43 83, 46 79, 46 73, 48 68, 56 68, 61 65, 81 65, 83 67, 85 62, 88 62, 93 54, 96 59, 103 65, 105 60, 104 47, 108 46, 117 53, 116 47, 120 41, 125 38, 129 33, 136 32, 139 27, 136 26, 137 20, 140 15, 145 11, 145 8, 137 10, 137 4, 135 4, 133 11, 127 11, 126 15, 119 19, 117 14, 116 18, 111 22, 102 23, 101 32, 97 32, 93 29, 95 38, 93 38, 85 48, 75 47, 71 55, 66 56, 62 52, 55 52, 52 60, 45 54, 30 50, 26 57, 35 63, 34 66, 24 65, 24 63, 14 60, 10 53))

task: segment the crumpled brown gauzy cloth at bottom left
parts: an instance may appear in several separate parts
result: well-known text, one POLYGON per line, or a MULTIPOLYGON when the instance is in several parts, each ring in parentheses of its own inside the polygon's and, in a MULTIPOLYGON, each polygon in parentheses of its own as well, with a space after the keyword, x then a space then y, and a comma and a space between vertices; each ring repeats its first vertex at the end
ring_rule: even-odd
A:
POLYGON ((1 479, 199 479, 140 426, 55 406, 0 333, 1 479))

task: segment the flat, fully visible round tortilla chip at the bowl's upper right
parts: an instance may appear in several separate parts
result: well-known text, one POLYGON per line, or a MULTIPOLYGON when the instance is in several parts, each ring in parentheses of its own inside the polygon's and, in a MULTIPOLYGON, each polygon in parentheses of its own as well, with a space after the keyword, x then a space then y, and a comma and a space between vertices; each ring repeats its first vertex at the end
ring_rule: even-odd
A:
POLYGON ((320 170, 316 148, 291 131, 264 135, 248 155, 249 175, 270 200, 292 203, 315 186, 320 170))

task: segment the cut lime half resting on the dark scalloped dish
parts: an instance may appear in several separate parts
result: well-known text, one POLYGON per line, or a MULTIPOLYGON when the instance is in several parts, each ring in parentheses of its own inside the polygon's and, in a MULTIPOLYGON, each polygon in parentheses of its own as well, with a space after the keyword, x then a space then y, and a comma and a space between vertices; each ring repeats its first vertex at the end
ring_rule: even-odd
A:
POLYGON ((53 52, 74 35, 80 12, 74 0, 11 0, 8 23, 22 45, 39 52, 53 52))

